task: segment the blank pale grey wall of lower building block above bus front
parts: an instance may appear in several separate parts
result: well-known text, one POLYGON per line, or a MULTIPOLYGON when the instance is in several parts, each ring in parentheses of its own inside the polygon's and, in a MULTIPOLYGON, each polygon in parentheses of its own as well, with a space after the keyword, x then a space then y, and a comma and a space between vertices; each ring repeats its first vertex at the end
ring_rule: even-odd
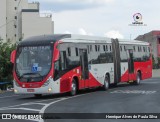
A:
POLYGON ((22 12, 23 39, 30 36, 51 34, 53 22, 50 17, 40 17, 39 12, 22 12))

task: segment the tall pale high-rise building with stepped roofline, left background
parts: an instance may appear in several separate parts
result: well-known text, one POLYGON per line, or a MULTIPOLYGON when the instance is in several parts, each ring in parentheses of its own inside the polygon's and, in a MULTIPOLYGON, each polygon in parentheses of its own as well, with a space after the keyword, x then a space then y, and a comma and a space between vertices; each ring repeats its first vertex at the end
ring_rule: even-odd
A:
POLYGON ((52 34, 52 14, 39 13, 38 2, 0 0, 0 40, 16 43, 36 35, 52 34))

